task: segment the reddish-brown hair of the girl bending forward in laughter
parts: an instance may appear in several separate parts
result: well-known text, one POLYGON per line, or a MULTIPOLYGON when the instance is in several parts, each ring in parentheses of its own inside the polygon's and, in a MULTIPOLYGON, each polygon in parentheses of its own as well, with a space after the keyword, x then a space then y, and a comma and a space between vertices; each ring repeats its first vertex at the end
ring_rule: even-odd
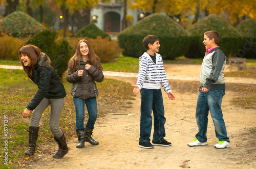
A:
POLYGON ((22 64, 23 70, 27 73, 29 77, 33 76, 34 66, 36 64, 37 59, 40 57, 41 50, 39 47, 34 45, 26 45, 19 49, 18 55, 20 63, 22 64), (21 60, 21 57, 23 55, 27 55, 28 58, 31 60, 30 66, 24 66, 24 63, 21 60))

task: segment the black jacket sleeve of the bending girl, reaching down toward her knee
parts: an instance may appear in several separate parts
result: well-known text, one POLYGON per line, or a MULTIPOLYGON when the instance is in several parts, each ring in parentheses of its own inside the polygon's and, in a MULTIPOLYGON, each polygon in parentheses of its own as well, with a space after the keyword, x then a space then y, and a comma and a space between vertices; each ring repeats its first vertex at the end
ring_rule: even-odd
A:
POLYGON ((30 110, 35 109, 36 106, 39 105, 42 99, 44 99, 44 97, 48 94, 50 88, 51 73, 49 72, 49 69, 44 66, 40 66, 38 67, 37 72, 39 73, 38 91, 27 106, 27 108, 30 110))

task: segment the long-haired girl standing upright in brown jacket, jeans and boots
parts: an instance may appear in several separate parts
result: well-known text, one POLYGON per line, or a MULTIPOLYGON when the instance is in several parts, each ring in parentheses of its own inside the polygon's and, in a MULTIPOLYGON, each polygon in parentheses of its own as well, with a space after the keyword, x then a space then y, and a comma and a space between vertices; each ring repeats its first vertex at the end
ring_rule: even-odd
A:
POLYGON ((71 94, 76 109, 76 133, 79 141, 76 148, 83 148, 84 142, 89 142, 92 145, 99 144, 91 135, 98 114, 96 101, 98 89, 95 81, 103 81, 102 71, 100 60, 90 43, 87 40, 80 40, 76 53, 69 61, 67 73, 67 81, 73 83, 71 94), (87 106, 89 115, 86 128, 83 124, 84 104, 87 106))

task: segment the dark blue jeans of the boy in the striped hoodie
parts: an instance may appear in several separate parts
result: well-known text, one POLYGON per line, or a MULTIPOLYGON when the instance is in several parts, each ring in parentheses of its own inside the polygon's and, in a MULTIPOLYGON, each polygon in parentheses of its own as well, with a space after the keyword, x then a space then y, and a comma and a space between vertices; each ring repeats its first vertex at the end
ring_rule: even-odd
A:
POLYGON ((165 117, 161 89, 141 89, 140 90, 140 138, 139 142, 150 142, 152 129, 152 110, 154 115, 154 134, 156 142, 163 142, 165 137, 165 117))

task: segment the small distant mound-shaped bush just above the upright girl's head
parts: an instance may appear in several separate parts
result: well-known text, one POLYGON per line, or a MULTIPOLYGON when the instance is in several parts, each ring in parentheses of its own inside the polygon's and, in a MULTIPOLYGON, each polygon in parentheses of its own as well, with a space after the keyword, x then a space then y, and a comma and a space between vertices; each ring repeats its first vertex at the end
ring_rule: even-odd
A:
POLYGON ((99 27, 96 26, 94 23, 90 23, 87 26, 84 26, 79 31, 77 31, 73 36, 71 36, 71 38, 72 37, 76 37, 76 38, 89 37, 89 38, 96 39, 97 36, 100 36, 103 39, 105 37, 110 37, 104 31, 100 30, 99 27))

